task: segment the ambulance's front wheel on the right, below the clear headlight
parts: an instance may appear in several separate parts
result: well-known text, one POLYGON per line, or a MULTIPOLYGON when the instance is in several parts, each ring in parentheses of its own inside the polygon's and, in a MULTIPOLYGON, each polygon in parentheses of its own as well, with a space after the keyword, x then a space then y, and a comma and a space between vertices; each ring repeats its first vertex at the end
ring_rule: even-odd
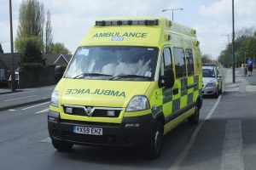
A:
POLYGON ((150 159, 156 159, 160 156, 163 145, 164 127, 161 122, 157 122, 154 131, 150 137, 148 145, 144 148, 144 156, 150 159))

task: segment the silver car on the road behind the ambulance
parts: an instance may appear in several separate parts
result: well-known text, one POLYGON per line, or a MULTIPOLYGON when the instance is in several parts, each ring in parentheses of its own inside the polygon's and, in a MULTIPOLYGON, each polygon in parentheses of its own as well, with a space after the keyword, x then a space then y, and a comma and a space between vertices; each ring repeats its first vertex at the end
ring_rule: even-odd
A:
POLYGON ((222 93, 222 75, 219 74, 216 66, 203 66, 203 95, 214 95, 218 98, 218 95, 222 93))

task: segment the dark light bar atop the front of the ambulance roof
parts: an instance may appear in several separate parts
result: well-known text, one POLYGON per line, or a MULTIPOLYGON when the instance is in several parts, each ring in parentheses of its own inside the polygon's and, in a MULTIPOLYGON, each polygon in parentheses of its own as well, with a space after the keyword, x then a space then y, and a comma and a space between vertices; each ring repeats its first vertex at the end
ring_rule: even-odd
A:
POLYGON ((95 26, 158 26, 159 20, 96 20, 95 26))

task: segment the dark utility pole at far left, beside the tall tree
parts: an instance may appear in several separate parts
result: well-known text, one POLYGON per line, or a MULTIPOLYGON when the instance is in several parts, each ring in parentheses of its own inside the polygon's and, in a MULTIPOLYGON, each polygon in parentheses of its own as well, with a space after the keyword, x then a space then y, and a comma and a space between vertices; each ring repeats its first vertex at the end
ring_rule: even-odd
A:
POLYGON ((10 26, 10 42, 11 42, 11 88, 15 92, 15 56, 14 56, 14 37, 13 37, 13 16, 12 16, 12 0, 9 0, 9 26, 10 26))

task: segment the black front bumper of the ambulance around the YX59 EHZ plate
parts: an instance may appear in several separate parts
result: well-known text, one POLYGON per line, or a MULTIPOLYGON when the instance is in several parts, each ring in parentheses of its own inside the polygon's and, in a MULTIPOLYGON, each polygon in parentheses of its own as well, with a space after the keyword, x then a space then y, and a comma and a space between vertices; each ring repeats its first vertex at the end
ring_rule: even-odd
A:
POLYGON ((121 123, 80 122, 60 118, 58 112, 49 111, 48 130, 51 139, 79 145, 137 147, 147 144, 154 128, 151 114, 124 117, 121 123), (128 123, 139 123, 139 127, 125 127, 128 123), (102 135, 73 133, 73 126, 99 127, 102 135))

